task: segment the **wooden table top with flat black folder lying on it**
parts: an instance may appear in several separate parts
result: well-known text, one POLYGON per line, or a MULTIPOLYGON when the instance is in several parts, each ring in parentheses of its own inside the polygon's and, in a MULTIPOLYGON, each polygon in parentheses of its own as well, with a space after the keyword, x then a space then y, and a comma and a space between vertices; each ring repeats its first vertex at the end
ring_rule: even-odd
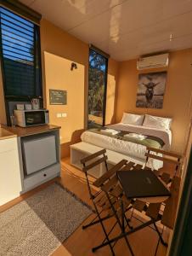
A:
POLYGON ((155 203, 166 201, 171 195, 167 185, 151 170, 119 171, 117 177, 129 199, 155 203))

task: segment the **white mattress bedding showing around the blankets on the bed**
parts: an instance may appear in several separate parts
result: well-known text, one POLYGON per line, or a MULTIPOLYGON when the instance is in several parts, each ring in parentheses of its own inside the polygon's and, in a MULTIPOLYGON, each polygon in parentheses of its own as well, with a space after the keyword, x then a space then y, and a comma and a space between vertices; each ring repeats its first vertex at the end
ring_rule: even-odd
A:
MULTIPOLYGON (((144 135, 159 137, 165 143, 163 147, 164 150, 169 150, 171 146, 172 132, 170 130, 160 130, 155 128, 144 127, 141 125, 126 125, 122 123, 116 125, 108 125, 107 127, 121 131, 130 131, 144 135)), ((119 152, 121 154, 137 157, 141 160, 145 160, 146 158, 144 156, 144 154, 146 153, 146 147, 141 144, 119 140, 114 137, 108 137, 103 134, 101 135, 93 133, 91 131, 84 131, 82 133, 81 138, 82 142, 91 143, 101 148, 107 148, 119 152)), ((159 169, 162 167, 162 162, 159 160, 151 159, 149 166, 154 169, 159 169)))

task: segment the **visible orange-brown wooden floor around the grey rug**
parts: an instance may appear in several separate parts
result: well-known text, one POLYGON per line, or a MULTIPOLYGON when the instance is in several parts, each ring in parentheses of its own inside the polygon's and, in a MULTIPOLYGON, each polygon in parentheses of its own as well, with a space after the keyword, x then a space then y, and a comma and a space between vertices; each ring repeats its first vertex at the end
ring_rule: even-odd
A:
MULTIPOLYGON (((70 165, 70 159, 62 160, 62 172, 60 178, 55 178, 54 180, 45 183, 39 186, 37 189, 33 189, 30 192, 27 192, 25 195, 20 196, 14 201, 8 202, 3 207, 0 207, 0 212, 8 209, 9 207, 14 206, 25 198, 37 193, 37 191, 47 187, 50 183, 53 183, 55 180, 58 180, 59 183, 62 183, 67 189, 70 189, 75 193, 82 201, 87 202, 91 205, 91 201, 88 197, 87 184, 84 178, 84 174, 77 170, 75 167, 70 165)), ((88 223, 89 219, 92 219, 93 215, 90 216, 84 223, 88 223)), ((138 216, 138 218, 141 218, 138 216)), ((105 224, 108 228, 114 224, 114 219, 105 221, 105 224)), ((140 222, 133 218, 133 226, 137 226, 140 222)), ((116 229, 112 232, 110 237, 116 236, 119 230, 116 229)), ((168 240, 169 230, 164 231, 164 239, 168 240)), ((100 224, 89 227, 87 230, 82 230, 80 226, 77 230, 63 242, 63 245, 60 246, 54 253, 53 256, 65 256, 65 255, 74 255, 74 256, 108 256, 111 255, 109 247, 104 247, 99 249, 96 253, 92 253, 92 247, 95 247, 101 243, 104 239, 103 231, 101 230, 100 224), (66 250, 70 253, 67 253, 66 250)), ((135 256, 153 256, 155 255, 155 247, 157 245, 158 236, 156 232, 149 227, 140 230, 133 235, 128 237, 131 246, 133 247, 133 252, 135 256)), ((115 247, 116 256, 129 256, 131 255, 127 249, 126 243, 121 239, 116 243, 115 247)), ((167 248, 162 246, 161 243, 158 246, 157 256, 165 256, 167 253, 167 248)))

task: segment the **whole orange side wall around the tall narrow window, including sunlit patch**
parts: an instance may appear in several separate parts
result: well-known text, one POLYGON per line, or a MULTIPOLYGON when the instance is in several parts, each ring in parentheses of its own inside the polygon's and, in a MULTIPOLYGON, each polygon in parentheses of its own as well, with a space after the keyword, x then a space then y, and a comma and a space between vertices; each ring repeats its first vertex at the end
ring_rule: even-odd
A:
MULTIPOLYGON (((61 126, 61 155, 65 156, 70 153, 69 145, 79 137, 78 131, 88 122, 88 44, 42 19, 41 46, 44 105, 49 109, 50 123, 61 126), (72 61, 77 69, 71 72, 72 61), (50 105, 49 89, 67 90, 67 105, 50 105), (67 117, 57 118, 57 113, 67 113, 67 117)), ((108 70, 106 123, 109 124, 115 118, 118 62, 110 59, 108 70)))

